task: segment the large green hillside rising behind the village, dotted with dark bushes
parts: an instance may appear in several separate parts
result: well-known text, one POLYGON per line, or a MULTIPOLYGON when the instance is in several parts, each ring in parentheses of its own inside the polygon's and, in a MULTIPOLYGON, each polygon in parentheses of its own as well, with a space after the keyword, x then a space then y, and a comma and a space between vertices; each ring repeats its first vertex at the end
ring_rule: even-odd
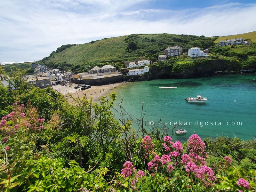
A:
MULTIPOLYGON (((216 37, 217 38, 217 37, 216 37)), ((204 36, 173 34, 132 34, 113 38, 104 38, 93 43, 67 45, 63 51, 57 49, 49 57, 39 61, 50 68, 83 71, 86 67, 104 64, 118 65, 121 61, 132 61, 138 58, 157 58, 169 45, 178 44, 183 52, 191 46, 208 48, 213 40, 204 36)), ((65 45, 61 46, 65 47, 65 45)), ((62 49, 62 48, 61 48, 62 49)))

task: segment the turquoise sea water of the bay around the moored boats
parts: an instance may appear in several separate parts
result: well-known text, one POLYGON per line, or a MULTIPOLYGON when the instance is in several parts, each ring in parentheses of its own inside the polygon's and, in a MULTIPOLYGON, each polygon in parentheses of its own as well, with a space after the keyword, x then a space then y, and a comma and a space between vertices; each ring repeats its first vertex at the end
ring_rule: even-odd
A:
POLYGON ((201 138, 223 135, 249 140, 256 136, 256 74, 132 82, 120 85, 112 91, 123 99, 123 108, 134 119, 141 115, 144 103, 144 120, 147 124, 153 121, 156 125, 161 119, 163 125, 159 125, 159 128, 164 128, 167 122, 167 127, 171 129, 174 122, 179 124, 181 121, 180 128, 186 129, 187 134, 173 136, 178 140, 187 140, 193 133, 201 138), (158 88, 162 86, 177 89, 158 88), (196 104, 184 100, 198 94, 208 101, 196 104))

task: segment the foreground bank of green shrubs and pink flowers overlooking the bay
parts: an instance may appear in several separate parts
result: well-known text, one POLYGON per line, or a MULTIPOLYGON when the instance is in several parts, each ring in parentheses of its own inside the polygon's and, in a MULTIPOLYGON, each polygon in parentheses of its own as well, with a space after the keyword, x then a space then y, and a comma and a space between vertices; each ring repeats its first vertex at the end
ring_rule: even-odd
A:
POLYGON ((180 143, 174 127, 144 124, 143 110, 128 118, 122 100, 116 120, 116 93, 69 104, 51 88, 0 89, 1 191, 256 190, 256 140, 180 143))

